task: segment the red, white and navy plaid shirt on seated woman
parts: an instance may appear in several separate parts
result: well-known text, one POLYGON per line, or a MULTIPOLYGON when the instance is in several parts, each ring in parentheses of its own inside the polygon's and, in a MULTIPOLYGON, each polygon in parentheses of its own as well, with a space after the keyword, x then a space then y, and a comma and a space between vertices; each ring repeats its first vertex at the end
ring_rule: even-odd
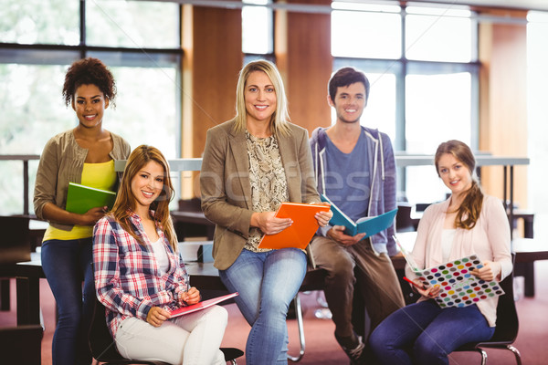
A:
POLYGON ((101 218, 93 229, 95 289, 100 302, 107 308, 107 323, 113 338, 125 318, 146 320, 153 307, 179 308, 179 293, 187 286, 183 259, 174 253, 162 227, 157 226, 156 231, 169 258, 169 269, 163 275, 144 234, 141 218, 132 213, 130 221, 134 232, 146 245, 140 245, 109 215, 101 218))

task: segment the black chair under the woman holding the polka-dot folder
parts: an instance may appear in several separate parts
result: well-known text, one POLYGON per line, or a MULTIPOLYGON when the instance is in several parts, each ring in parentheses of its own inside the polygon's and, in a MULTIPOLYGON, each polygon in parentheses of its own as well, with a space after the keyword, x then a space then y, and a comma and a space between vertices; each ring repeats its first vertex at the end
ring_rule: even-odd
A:
POLYGON ((519 329, 518 313, 513 297, 513 272, 501 281, 501 287, 505 294, 499 297, 497 327, 492 339, 483 342, 471 342, 456 350, 478 351, 481 354, 481 365, 485 365, 487 363, 487 352, 482 348, 510 349, 516 358, 516 363, 522 365, 520 351, 512 346, 516 337, 518 337, 519 329))

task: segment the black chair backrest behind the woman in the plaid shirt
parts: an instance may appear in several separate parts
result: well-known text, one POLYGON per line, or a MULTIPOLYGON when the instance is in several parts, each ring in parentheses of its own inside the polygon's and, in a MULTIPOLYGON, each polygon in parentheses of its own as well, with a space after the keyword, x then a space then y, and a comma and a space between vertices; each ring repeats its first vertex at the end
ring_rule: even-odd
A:
POLYGON ((93 318, 88 331, 88 343, 95 360, 122 360, 107 326, 105 307, 95 298, 93 318))

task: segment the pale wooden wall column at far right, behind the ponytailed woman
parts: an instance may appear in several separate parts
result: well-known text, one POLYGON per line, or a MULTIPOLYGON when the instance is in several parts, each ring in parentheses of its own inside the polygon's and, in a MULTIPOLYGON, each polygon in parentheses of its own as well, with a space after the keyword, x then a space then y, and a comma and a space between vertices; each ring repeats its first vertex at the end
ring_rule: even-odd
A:
MULTIPOLYGON (((489 16, 527 16, 525 11, 479 11, 489 16)), ((495 156, 527 156, 527 26, 479 25, 479 150, 495 156)), ((501 167, 481 169, 486 193, 503 197, 501 167)), ((510 195, 507 193, 510 198, 510 195)), ((514 202, 527 204, 527 167, 514 167, 514 202)))

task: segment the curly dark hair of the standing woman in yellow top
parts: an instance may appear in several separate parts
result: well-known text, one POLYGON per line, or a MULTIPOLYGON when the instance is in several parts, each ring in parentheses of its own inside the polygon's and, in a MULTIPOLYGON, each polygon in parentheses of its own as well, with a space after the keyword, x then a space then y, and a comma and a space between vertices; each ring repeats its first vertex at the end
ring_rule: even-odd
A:
POLYGON ((111 71, 98 58, 87 57, 74 62, 67 70, 63 85, 63 99, 70 105, 76 89, 81 85, 95 85, 114 107, 116 99, 116 82, 111 71))

